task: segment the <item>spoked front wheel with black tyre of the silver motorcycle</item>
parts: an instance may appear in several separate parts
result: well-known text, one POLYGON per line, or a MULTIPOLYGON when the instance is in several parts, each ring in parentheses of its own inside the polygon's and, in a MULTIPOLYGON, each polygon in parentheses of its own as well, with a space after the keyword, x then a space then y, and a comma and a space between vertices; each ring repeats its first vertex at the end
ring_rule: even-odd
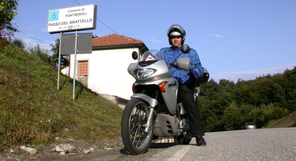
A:
POLYGON ((121 118, 121 137, 126 150, 132 155, 146 152, 153 138, 154 120, 148 133, 144 132, 149 107, 139 98, 131 98, 123 110, 121 118))

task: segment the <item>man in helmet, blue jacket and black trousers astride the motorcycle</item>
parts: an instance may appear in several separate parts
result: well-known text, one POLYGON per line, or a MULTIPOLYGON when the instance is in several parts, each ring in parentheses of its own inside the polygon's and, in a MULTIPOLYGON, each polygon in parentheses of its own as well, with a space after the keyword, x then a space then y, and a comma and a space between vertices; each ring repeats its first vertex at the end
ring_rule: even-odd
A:
POLYGON ((206 146, 207 143, 202 137, 205 135, 204 128, 202 126, 199 110, 197 109, 197 103, 193 98, 193 90, 190 84, 191 77, 197 79, 203 74, 204 70, 200 63, 200 58, 197 52, 192 48, 190 48, 187 54, 181 52, 181 46, 184 44, 186 32, 180 25, 174 24, 170 26, 167 35, 168 41, 172 46, 160 49, 160 51, 164 53, 166 63, 172 63, 175 59, 177 61, 178 58, 182 57, 190 58, 189 71, 177 67, 171 67, 169 71, 179 82, 179 96, 181 97, 189 125, 191 126, 191 136, 196 138, 196 144, 198 146, 206 146))

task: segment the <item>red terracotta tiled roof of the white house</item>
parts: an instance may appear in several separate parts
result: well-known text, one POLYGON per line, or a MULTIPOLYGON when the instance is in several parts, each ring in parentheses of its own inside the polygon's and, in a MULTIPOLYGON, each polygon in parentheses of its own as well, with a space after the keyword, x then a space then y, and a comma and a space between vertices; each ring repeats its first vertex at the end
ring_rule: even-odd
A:
POLYGON ((105 46, 105 45, 124 45, 124 44, 139 44, 143 43, 141 40, 128 38, 123 35, 110 34, 102 37, 96 37, 92 39, 93 46, 105 46))

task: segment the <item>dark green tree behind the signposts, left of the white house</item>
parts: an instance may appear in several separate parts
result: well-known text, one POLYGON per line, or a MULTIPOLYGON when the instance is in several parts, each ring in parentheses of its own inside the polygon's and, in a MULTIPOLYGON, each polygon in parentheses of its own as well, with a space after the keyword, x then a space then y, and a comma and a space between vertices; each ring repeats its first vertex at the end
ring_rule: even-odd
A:
MULTIPOLYGON (((51 56, 52 65, 53 65, 53 68, 56 68, 59 65, 59 39, 56 39, 55 43, 51 44, 50 46, 52 47, 51 51, 53 52, 53 54, 51 56)), ((69 61, 65 55, 61 55, 60 64, 65 67, 69 66, 69 61)))

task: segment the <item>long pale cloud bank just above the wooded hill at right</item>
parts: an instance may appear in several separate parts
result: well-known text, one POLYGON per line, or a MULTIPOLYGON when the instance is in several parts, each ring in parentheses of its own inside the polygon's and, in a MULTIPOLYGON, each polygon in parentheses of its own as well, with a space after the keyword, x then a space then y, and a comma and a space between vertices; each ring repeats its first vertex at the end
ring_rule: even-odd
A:
POLYGON ((216 82, 219 82, 220 79, 229 79, 234 82, 237 82, 237 79, 242 80, 251 80, 256 79, 256 77, 260 77, 267 74, 277 74, 277 73, 283 73, 286 69, 293 69, 296 64, 285 64, 281 66, 275 66, 272 68, 265 68, 265 69, 255 69, 250 71, 224 71, 218 74, 214 74, 210 76, 211 78, 215 79, 216 82))

